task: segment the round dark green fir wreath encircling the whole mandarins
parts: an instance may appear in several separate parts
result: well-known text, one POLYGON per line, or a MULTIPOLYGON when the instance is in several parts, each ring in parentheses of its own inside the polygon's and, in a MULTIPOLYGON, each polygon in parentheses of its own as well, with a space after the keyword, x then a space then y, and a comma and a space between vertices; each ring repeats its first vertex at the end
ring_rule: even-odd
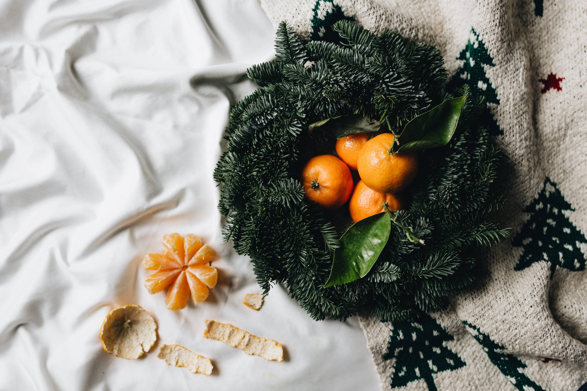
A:
POLYGON ((339 43, 303 44, 282 22, 276 59, 247 70, 260 88, 232 108, 226 152, 214 171, 224 238, 251 257, 265 294, 284 283, 314 319, 360 313, 394 321, 441 310, 447 295, 473 283, 479 247, 508 236, 490 219, 504 199, 494 182, 502 155, 479 122, 485 103, 463 87, 459 94, 468 97, 454 137, 420 152, 410 208, 396 215, 426 244, 410 242, 394 225, 365 277, 323 288, 342 232, 333 215, 305 198, 298 179, 329 142, 308 125, 360 113, 397 129, 454 97, 435 47, 387 29, 376 36, 350 21, 333 30, 339 43))

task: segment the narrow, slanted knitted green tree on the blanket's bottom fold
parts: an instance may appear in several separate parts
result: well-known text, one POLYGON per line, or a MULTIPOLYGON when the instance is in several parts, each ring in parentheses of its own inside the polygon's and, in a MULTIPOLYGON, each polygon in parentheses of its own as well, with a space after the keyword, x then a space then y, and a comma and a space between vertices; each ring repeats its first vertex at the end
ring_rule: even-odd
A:
POLYGON ((469 322, 463 321, 463 324, 469 329, 473 338, 475 338, 481 347, 483 347, 483 351, 487 354, 487 357, 493 365, 497 366, 497 369, 499 369, 518 390, 545 391, 541 386, 530 380, 528 376, 524 375, 522 369, 526 368, 527 365, 516 356, 505 353, 504 345, 492 341, 489 335, 483 334, 480 329, 469 322))

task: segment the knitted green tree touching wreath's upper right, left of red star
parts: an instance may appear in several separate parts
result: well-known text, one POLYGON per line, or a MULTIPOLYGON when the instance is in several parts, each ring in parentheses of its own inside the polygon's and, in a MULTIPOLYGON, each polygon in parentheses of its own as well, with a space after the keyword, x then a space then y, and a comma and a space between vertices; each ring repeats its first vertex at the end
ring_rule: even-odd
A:
MULTIPOLYGON (((457 60, 462 60, 463 66, 457 69, 457 73, 448 81, 448 89, 457 90, 464 84, 468 84, 473 93, 484 96, 488 103, 500 104, 497 92, 485 74, 484 68, 484 66, 495 66, 495 64, 475 29, 471 29, 467 46, 461 50, 457 60)), ((496 136, 504 134, 489 108, 482 114, 481 120, 487 124, 490 134, 496 136)))

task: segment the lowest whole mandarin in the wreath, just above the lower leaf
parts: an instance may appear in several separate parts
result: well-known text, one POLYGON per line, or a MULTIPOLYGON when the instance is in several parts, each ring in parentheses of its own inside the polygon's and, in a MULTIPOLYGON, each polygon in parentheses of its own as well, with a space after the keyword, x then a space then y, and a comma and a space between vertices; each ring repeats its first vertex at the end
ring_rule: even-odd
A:
POLYGON ((355 186, 353 195, 350 196, 349 212, 353 222, 366 219, 377 213, 385 212, 383 203, 387 202, 389 210, 402 210, 406 208, 400 193, 380 193, 368 188, 365 182, 359 181, 355 186))

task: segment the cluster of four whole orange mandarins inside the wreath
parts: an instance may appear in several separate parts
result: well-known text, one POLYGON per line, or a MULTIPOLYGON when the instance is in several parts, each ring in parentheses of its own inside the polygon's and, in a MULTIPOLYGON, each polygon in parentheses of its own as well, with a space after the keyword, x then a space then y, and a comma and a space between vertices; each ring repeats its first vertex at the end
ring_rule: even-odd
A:
POLYGON ((311 158, 302 170, 306 197, 325 209, 338 209, 350 198, 349 212, 354 222, 390 210, 406 208, 400 193, 418 173, 417 152, 392 154, 394 136, 382 133, 352 134, 336 141, 336 154, 311 158), (354 186, 350 169, 359 172, 354 186))

